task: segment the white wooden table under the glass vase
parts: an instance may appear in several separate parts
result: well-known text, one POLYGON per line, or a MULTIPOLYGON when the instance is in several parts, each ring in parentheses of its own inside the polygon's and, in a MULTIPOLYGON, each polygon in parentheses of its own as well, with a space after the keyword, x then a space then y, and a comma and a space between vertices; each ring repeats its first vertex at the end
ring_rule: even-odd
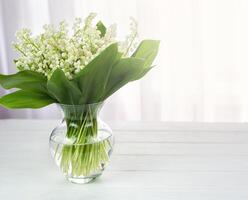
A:
POLYGON ((48 138, 57 121, 0 120, 0 199, 247 200, 248 125, 115 123, 95 182, 67 182, 48 138))

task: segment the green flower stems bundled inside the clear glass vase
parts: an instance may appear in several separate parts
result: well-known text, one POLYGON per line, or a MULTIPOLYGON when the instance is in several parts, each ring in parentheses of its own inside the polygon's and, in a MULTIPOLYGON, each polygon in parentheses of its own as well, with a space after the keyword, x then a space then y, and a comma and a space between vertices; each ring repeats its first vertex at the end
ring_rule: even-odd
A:
POLYGON ((87 177, 101 171, 109 162, 108 150, 111 144, 108 139, 100 140, 97 137, 97 117, 94 112, 88 109, 79 119, 77 116, 68 118, 66 125, 66 139, 74 142, 63 145, 59 155, 55 153, 63 173, 73 177, 87 177))

